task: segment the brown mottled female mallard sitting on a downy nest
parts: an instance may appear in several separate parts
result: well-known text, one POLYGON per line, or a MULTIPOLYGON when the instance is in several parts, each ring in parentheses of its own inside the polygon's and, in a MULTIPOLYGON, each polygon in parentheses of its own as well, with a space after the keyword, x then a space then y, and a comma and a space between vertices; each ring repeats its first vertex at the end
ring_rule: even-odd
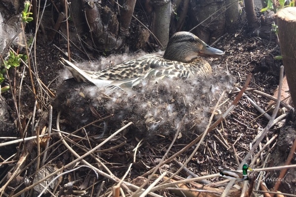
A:
POLYGON ((96 86, 133 87, 144 78, 189 78, 212 73, 210 64, 198 56, 222 56, 224 52, 210 47, 189 32, 175 33, 163 57, 146 55, 97 72, 82 70, 63 59, 77 82, 96 86))

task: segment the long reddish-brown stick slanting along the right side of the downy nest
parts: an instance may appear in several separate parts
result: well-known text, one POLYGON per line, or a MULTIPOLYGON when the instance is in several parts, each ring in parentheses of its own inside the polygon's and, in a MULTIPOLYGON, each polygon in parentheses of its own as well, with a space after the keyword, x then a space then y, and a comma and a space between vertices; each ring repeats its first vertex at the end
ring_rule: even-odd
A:
MULTIPOLYGON (((251 80, 251 74, 248 75, 247 80, 245 82, 244 87, 242 88, 242 90, 239 92, 239 94, 236 96, 236 98, 233 100, 231 106, 226 110, 226 112, 222 115, 222 117, 220 117, 208 130, 207 132, 212 131, 215 127, 217 127, 217 125, 219 125, 219 123, 222 122, 222 120, 230 113, 230 111, 232 111, 232 109, 234 109, 235 105, 237 104, 237 102, 239 101, 239 99, 242 97, 244 91, 246 90, 246 88, 248 87, 250 80, 251 80)), ((169 162, 171 162, 174 158, 176 158, 178 155, 184 153, 186 150, 188 150, 189 148, 191 148, 195 143, 197 143, 198 141, 200 141, 202 135, 199 135, 197 138, 195 138, 193 141, 191 141, 189 144, 187 144, 182 150, 180 150, 179 152, 175 153, 173 156, 171 156, 170 158, 168 158, 166 161, 164 161, 162 163, 162 165, 167 164, 169 162)), ((154 167, 155 168, 155 167, 154 167)), ((154 170, 154 168, 150 169, 148 172, 144 173, 142 176, 147 176, 148 174, 150 174, 152 172, 152 170, 154 170)))

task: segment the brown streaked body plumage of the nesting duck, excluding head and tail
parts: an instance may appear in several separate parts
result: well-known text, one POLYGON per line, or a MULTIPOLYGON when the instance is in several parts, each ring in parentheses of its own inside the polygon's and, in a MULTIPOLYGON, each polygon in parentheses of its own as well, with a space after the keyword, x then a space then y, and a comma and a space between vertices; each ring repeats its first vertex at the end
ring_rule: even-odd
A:
POLYGON ((122 80, 141 76, 147 78, 153 75, 155 77, 189 78, 191 76, 208 76, 212 74, 210 64, 202 58, 183 63, 165 60, 156 55, 146 55, 98 72, 83 71, 93 79, 103 80, 122 80))

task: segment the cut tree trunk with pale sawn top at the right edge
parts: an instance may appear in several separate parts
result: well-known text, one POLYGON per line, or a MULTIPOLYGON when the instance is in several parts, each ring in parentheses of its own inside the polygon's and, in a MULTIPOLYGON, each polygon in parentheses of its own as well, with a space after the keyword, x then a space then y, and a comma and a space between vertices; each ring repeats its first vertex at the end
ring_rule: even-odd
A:
POLYGON ((292 101, 296 103, 296 7, 277 13, 281 53, 292 101))

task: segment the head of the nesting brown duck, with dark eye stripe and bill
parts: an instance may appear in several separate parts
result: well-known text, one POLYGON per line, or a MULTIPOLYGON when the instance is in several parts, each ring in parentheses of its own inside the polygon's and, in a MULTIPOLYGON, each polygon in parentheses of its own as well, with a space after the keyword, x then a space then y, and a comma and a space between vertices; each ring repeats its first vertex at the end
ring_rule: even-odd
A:
POLYGON ((196 35, 177 32, 170 38, 163 58, 171 61, 189 62, 198 56, 222 56, 224 52, 210 47, 196 35))

